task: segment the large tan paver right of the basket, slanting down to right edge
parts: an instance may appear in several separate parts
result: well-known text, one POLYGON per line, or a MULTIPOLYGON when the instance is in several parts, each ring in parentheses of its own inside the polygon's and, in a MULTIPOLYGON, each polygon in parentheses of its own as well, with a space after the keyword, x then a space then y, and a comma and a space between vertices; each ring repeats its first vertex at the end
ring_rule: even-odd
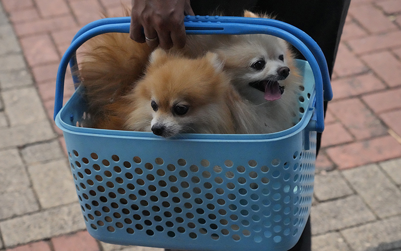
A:
POLYGON ((401 191, 377 165, 345 170, 342 174, 380 218, 401 213, 401 191))

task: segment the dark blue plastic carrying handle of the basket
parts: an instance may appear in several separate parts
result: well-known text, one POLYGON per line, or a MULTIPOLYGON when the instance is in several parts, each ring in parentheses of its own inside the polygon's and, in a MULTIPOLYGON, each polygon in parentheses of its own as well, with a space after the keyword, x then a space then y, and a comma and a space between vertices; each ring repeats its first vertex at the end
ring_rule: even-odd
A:
MULTIPOLYGON (((330 100, 332 97, 330 78, 327 63, 321 49, 306 33, 277 20, 257 18, 187 16, 184 24, 187 34, 268 34, 291 43, 302 53, 312 68, 316 87, 316 131, 323 132, 323 86, 324 98, 330 100)), ((54 118, 63 105, 64 78, 67 65, 69 61, 71 61, 72 67, 76 65, 76 50, 90 38, 103 33, 129 33, 129 26, 129 17, 109 18, 90 23, 77 33, 59 65, 56 80, 54 118)))

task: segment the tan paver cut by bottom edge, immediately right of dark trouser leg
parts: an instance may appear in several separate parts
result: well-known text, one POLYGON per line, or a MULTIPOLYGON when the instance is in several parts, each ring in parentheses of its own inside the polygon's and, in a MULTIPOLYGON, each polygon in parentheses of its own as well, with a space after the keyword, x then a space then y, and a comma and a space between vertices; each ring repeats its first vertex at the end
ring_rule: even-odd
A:
POLYGON ((351 251, 344 238, 338 232, 312 237, 313 251, 351 251))

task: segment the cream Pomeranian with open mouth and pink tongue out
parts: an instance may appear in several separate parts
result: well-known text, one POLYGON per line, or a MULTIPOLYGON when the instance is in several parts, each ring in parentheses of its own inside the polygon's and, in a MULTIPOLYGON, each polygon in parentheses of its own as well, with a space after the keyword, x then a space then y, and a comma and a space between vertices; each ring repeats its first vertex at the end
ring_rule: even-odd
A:
MULTIPOLYGON (((245 11, 244 17, 270 18, 245 11)), ((290 45, 265 34, 191 35, 179 53, 198 57, 215 52, 242 97, 255 105, 263 130, 275 133, 298 122, 298 93, 302 77, 290 45)))

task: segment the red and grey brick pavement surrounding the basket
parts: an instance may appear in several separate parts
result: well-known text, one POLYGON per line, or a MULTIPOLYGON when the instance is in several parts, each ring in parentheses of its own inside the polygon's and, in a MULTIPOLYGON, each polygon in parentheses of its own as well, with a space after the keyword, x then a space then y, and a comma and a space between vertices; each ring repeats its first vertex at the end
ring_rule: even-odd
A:
MULTIPOLYGON (((156 250, 89 236, 52 120, 62 54, 99 12, 119 13, 120 0, 0 3, 0 250, 156 250)), ((332 86, 316 168, 313 251, 399 251, 401 1, 351 1, 332 86)), ((67 76, 65 97, 72 92, 67 76)))

